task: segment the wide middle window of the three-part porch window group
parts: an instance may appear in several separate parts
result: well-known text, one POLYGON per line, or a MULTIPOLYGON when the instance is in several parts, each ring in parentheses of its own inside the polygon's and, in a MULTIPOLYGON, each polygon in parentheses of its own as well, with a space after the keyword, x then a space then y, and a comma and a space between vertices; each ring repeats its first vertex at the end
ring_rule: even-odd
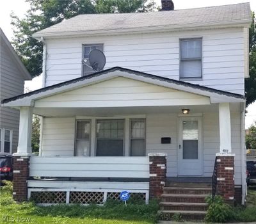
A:
POLYGON ((97 156, 124 156, 124 120, 97 121, 97 156))

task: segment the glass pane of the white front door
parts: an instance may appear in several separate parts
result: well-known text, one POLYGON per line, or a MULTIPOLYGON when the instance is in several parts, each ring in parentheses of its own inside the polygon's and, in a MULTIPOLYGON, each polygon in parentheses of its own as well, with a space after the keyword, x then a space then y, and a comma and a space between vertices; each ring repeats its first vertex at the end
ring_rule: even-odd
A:
POLYGON ((183 159, 198 159, 198 121, 182 122, 183 159))

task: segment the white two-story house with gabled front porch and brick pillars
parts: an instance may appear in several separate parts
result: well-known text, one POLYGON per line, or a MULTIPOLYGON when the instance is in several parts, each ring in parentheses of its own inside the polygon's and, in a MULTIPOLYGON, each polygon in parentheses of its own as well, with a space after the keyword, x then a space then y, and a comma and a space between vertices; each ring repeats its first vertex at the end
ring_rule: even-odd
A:
MULTIPOLYGON (((196 202, 214 173, 214 193, 244 203, 250 16, 249 3, 78 15, 35 33, 45 88, 2 102, 20 108, 19 166, 30 160, 30 177, 57 178, 29 180, 28 197, 102 203, 123 189, 146 200, 164 191, 164 210, 201 206, 202 215, 196 202), (106 56, 100 72, 84 65, 92 49, 106 56), (43 117, 40 156, 26 159, 33 113, 43 117)), ((26 178, 16 175, 24 184, 14 198, 24 200, 26 178)))

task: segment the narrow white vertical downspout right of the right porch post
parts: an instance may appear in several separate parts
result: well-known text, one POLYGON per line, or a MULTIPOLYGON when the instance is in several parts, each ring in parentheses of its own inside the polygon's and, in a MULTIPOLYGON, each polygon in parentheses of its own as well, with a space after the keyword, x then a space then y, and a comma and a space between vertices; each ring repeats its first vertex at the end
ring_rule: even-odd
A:
POLYGON ((246 167, 246 150, 245 150, 245 130, 244 130, 244 115, 245 115, 245 103, 241 102, 241 175, 242 175, 242 205, 245 204, 246 196, 246 177, 245 177, 245 167, 246 167))

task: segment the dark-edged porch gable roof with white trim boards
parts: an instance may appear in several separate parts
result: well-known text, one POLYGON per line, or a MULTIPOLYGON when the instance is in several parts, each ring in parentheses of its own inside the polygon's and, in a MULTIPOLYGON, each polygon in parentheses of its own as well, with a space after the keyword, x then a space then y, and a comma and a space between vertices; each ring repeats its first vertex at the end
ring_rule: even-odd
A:
POLYGON ((169 79, 167 77, 154 76, 145 72, 139 72, 127 68, 113 67, 107 70, 102 70, 100 72, 95 72, 94 74, 91 74, 89 76, 79 77, 77 79, 54 84, 52 86, 47 86, 45 88, 18 95, 16 97, 4 99, 1 103, 2 106, 7 107, 33 106, 35 100, 43 99, 45 97, 56 95, 58 93, 75 90, 77 88, 92 85, 95 83, 100 83, 102 81, 113 79, 115 77, 125 77, 137 81, 143 81, 145 83, 156 84, 157 86, 180 90, 182 92, 202 95, 205 97, 209 97, 211 103, 244 102, 245 100, 245 97, 243 95, 239 95, 236 93, 216 90, 214 88, 208 88, 205 86, 200 86, 198 84, 177 81, 174 79, 169 79))

